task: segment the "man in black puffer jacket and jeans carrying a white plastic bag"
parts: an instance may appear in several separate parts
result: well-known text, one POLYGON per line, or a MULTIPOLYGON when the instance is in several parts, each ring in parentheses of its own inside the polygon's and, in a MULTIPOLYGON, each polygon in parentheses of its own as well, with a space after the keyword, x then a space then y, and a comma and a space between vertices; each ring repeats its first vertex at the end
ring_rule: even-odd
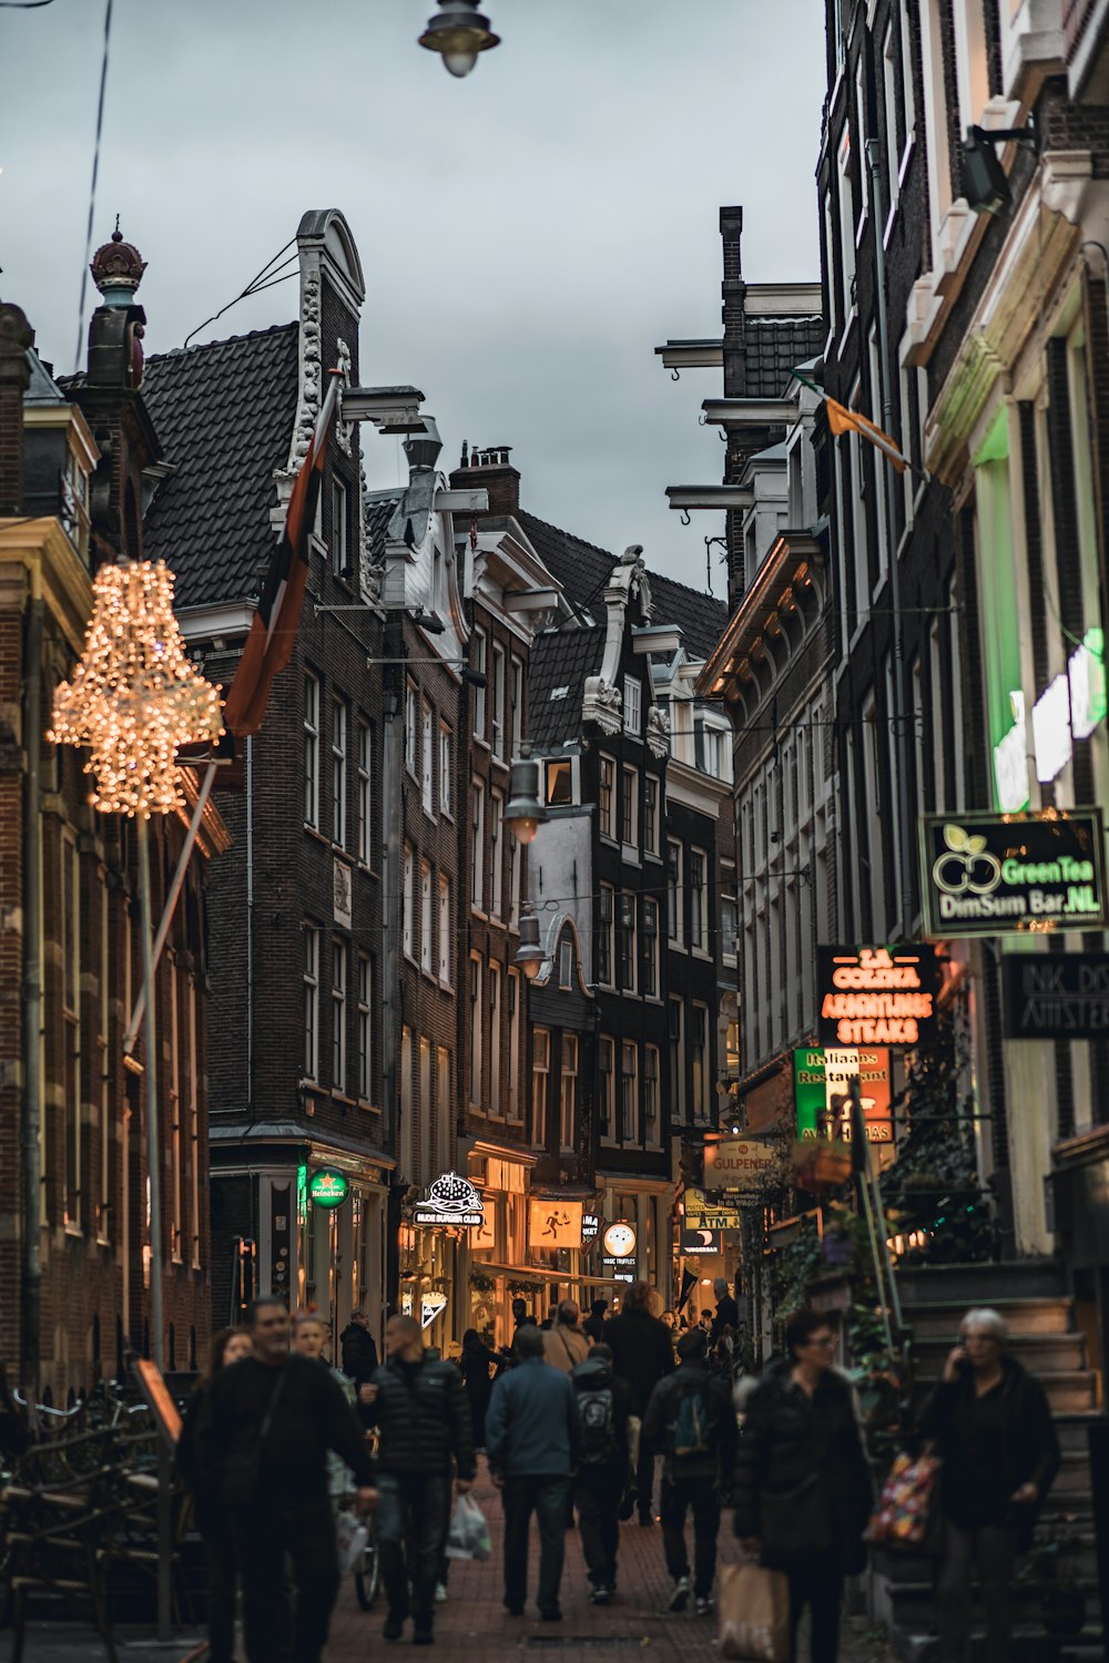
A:
POLYGON ((386 1364, 371 1390, 364 1414, 381 1434, 376 1522, 389 1600, 382 1633, 386 1640, 404 1633, 411 1585, 412 1641, 429 1646, 451 1510, 451 1460, 459 1495, 472 1487, 477 1470, 466 1387, 452 1364, 426 1357, 419 1322, 397 1315, 386 1322, 386 1364))

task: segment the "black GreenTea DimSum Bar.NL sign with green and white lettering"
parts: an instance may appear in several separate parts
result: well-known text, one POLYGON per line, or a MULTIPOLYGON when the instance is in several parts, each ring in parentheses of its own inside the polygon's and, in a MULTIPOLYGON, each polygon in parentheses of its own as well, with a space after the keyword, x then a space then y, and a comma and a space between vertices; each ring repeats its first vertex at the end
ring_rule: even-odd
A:
POLYGON ((1099 808, 924 815, 924 930, 933 936, 1101 930, 1104 848, 1099 808))

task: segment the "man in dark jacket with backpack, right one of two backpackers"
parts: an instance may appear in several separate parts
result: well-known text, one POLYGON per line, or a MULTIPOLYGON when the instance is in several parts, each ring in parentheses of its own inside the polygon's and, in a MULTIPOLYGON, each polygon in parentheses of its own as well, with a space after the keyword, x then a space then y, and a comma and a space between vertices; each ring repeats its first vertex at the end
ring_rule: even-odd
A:
POLYGON ((720 1502, 735 1472, 735 1410, 730 1385, 705 1365, 705 1335, 692 1329, 678 1340, 678 1369, 650 1394, 643 1437, 663 1452, 662 1543, 673 1580, 668 1610, 690 1598, 685 1515, 693 1512, 693 1598, 697 1615, 712 1611, 717 1575, 720 1502))

